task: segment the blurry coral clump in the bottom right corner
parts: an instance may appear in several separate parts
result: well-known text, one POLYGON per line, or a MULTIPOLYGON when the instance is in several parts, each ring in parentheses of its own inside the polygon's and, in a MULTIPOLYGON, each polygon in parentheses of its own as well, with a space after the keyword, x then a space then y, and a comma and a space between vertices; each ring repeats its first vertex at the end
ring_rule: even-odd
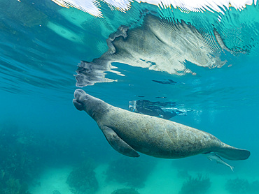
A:
POLYGON ((253 181, 250 184, 246 179, 229 179, 225 184, 225 189, 235 194, 258 193, 259 181, 253 181))

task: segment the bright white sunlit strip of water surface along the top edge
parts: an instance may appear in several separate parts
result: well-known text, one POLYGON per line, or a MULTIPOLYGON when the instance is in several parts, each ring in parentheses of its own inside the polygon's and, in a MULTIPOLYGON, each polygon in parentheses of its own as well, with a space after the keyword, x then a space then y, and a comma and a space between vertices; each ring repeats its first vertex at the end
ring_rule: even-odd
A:
MULTIPOLYGON (((59 6, 64 6, 69 8, 70 6, 83 10, 91 15, 102 17, 102 7, 100 8, 100 4, 97 1, 82 1, 82 0, 52 0, 57 3, 59 6)), ((106 0, 104 1, 107 3, 112 9, 120 10, 126 12, 130 10, 132 1, 129 0, 121 0, 121 1, 114 1, 114 0, 106 0)), ((200 1, 199 3, 190 0, 183 0, 183 1, 163 1, 163 0, 146 0, 146 1, 139 1, 142 3, 151 3, 155 6, 161 6, 162 8, 179 8, 181 11, 190 13, 193 12, 204 12, 209 10, 211 12, 217 11, 221 12, 223 10, 228 9, 229 6, 236 8, 238 10, 243 10, 246 5, 255 4, 257 1, 249 0, 249 1, 200 1)))

